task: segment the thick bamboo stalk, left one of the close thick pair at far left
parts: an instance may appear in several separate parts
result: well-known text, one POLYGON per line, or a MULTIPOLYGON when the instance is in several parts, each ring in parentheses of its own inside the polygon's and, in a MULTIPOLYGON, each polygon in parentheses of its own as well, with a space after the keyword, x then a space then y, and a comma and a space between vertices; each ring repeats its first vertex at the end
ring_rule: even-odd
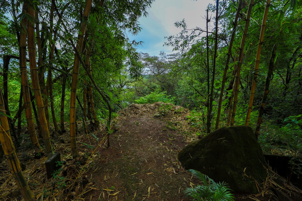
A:
MULTIPOLYGON (((24 2, 23 4, 23 13, 27 13, 25 10, 27 9, 27 3, 24 2)), ((26 68, 26 30, 24 30, 25 27, 27 27, 27 18, 24 17, 21 20, 21 31, 20 31, 20 71, 21 71, 21 87, 23 92, 23 99, 24 99, 24 105, 25 105, 25 115, 27 120, 27 127, 28 127, 28 133, 31 138, 31 143, 33 144, 34 150, 36 153, 39 153, 42 151, 36 130, 34 125, 34 119, 33 114, 31 110, 31 96, 29 91, 29 83, 28 83, 28 77, 27 77, 27 68, 26 68)), ((20 113, 21 115, 21 113, 20 113)))

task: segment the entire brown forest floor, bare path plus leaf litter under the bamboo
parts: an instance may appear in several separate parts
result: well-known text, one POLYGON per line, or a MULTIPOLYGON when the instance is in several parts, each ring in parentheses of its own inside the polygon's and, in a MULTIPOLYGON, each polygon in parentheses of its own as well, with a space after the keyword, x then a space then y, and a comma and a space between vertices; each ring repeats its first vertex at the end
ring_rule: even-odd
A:
MULTIPOLYGON (((77 136, 78 159, 72 159, 69 134, 53 134, 56 151, 66 161, 59 173, 61 178, 45 178, 45 156, 34 158, 32 151, 26 151, 28 146, 18 150, 22 152, 18 157, 27 165, 24 175, 37 200, 191 200, 184 189, 200 183, 177 160, 178 151, 196 139, 196 128, 190 127, 187 118, 189 111, 155 103, 131 105, 119 114, 112 122, 115 132, 110 135, 109 148, 104 125, 98 131, 77 136)), ((0 169, 0 200, 23 200, 5 160, 0 169)), ((285 193, 291 193, 294 201, 301 200, 295 192, 285 193)), ((278 200, 269 187, 258 195, 234 194, 236 200, 278 200)))

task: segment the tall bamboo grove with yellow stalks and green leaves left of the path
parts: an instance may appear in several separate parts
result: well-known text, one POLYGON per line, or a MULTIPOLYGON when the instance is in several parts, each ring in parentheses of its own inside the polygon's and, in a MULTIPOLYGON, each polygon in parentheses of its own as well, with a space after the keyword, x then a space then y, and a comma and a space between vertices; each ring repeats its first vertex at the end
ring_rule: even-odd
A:
POLYGON ((113 103, 107 89, 108 81, 117 77, 121 71, 127 71, 124 65, 126 60, 130 61, 129 66, 135 68, 138 55, 132 44, 136 42, 130 42, 125 33, 137 33, 137 20, 141 15, 147 16, 146 10, 151 3, 152 0, 133 3, 104 0, 1 2, 1 34, 4 36, 1 39, 1 51, 6 69, 2 85, 5 96, 1 93, 0 102, 1 150, 8 159, 11 173, 24 200, 33 200, 34 196, 23 176, 9 125, 14 127, 18 121, 18 129, 11 129, 16 132, 14 137, 17 144, 21 121, 27 122, 34 151, 36 154, 44 151, 50 158, 54 152, 50 129, 64 133, 65 122, 69 121, 72 156, 78 157, 77 107, 82 107, 86 132, 88 127, 96 129, 99 126, 96 105, 105 108, 102 118, 108 118, 106 110, 109 112, 107 121, 110 127, 113 103), (19 67, 16 65, 18 63, 19 67), (14 94, 18 92, 18 83, 11 82, 17 77, 20 98, 16 104, 10 99, 18 96, 14 94), (71 80, 70 88, 66 87, 68 80, 71 80), (59 86, 61 92, 58 91, 59 86), (69 92, 66 91, 68 88, 69 92), (79 89, 81 92, 78 92, 79 89), (99 93, 102 100, 98 104, 95 104, 93 90, 99 93), (55 108, 59 93, 60 108, 55 108), (70 102, 70 111, 67 110, 66 102, 70 102), (60 129, 56 119, 58 110, 60 129), (25 111, 26 121, 21 119, 22 111, 25 111), (14 113, 16 116, 11 116, 14 113), (66 118, 67 114, 70 114, 69 118, 66 118), (44 149, 41 149, 38 134, 43 138, 44 149))

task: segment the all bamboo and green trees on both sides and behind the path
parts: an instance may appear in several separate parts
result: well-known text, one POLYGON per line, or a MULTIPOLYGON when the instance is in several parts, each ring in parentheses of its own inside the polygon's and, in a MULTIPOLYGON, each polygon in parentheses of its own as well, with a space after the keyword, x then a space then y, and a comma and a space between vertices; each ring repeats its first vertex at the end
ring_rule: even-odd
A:
POLYGON ((103 121, 109 146, 114 112, 153 93, 199 112, 201 133, 256 124, 259 137, 265 112, 277 121, 301 112, 300 1, 217 0, 207 30, 176 22, 182 31, 165 45, 178 53, 159 57, 137 53, 142 42, 127 36, 152 2, 1 2, 1 150, 24 200, 34 200, 15 148, 25 125, 33 151, 47 158, 52 133, 69 130, 75 159, 79 120, 85 132, 103 121))

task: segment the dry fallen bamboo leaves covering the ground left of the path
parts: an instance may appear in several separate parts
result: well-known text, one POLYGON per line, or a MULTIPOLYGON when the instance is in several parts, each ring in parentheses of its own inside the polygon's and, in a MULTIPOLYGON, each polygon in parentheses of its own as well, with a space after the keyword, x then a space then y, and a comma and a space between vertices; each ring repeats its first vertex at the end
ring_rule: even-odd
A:
MULTIPOLYGON (((82 122, 79 123, 80 127, 81 124, 82 122)), ((105 132, 97 131, 93 135, 105 136, 105 132)), ((54 150, 61 154, 62 162, 58 165, 62 166, 60 170, 53 173, 53 177, 50 179, 47 179, 45 169, 46 154, 35 154, 34 150, 31 149, 29 139, 22 141, 22 147, 17 149, 18 159, 35 200, 85 200, 85 193, 97 189, 90 182, 90 176, 85 175, 85 173, 100 156, 93 152, 93 148, 95 148, 93 145, 81 143, 87 142, 87 138, 94 138, 93 135, 92 133, 77 135, 80 154, 80 157, 77 159, 72 159, 69 132, 63 133, 63 135, 52 135, 54 150)), ((96 141, 96 139, 94 140, 96 141)), ((101 139, 99 141, 101 142, 101 139)), ((101 146, 101 144, 98 144, 98 146, 101 146)), ((0 163, 0 200, 24 200, 10 173, 5 157, 1 159, 0 163)))

